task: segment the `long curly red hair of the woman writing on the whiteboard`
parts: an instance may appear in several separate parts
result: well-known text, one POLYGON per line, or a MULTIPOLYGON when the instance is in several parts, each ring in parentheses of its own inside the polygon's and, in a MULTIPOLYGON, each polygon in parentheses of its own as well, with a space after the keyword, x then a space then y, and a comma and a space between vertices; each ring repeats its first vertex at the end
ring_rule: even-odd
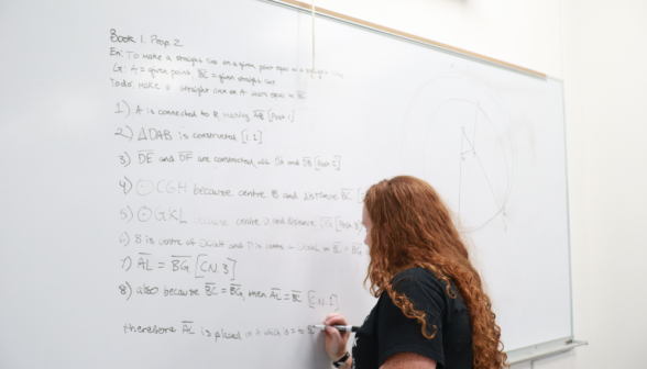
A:
POLYGON ((371 262, 366 280, 371 293, 386 291, 405 316, 417 320, 423 335, 432 338, 437 327, 428 329, 425 312, 416 311, 406 295, 397 293, 391 280, 398 272, 421 267, 454 286, 470 311, 474 369, 506 367, 501 328, 495 323, 492 303, 483 291, 481 277, 470 261, 468 248, 451 215, 434 188, 415 177, 401 176, 373 185, 364 205, 372 223, 371 262))

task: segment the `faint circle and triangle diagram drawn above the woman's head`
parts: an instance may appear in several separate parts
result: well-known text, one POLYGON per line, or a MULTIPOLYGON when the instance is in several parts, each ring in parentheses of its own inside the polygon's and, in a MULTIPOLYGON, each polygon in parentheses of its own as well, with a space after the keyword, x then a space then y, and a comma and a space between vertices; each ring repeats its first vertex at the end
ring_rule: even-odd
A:
POLYGON ((434 186, 461 231, 507 231, 512 143, 507 114, 490 89, 451 71, 425 83, 409 102, 403 165, 434 186))

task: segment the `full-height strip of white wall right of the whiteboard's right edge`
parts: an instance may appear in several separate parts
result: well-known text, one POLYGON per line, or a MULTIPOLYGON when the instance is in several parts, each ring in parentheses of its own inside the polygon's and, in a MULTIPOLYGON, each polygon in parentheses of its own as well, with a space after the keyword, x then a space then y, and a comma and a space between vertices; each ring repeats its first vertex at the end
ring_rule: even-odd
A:
POLYGON ((645 368, 647 2, 569 0, 564 35, 575 334, 591 345, 563 368, 645 368))

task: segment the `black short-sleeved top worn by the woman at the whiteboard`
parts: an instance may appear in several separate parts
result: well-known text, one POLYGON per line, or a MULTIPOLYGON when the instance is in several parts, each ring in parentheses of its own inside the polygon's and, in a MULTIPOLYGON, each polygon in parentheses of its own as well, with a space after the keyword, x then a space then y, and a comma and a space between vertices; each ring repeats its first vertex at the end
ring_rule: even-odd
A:
POLYGON ((434 338, 425 338, 421 324, 406 317, 384 292, 355 334, 352 369, 379 369, 397 353, 426 356, 438 362, 437 368, 472 368, 470 315, 456 288, 450 287, 457 295, 452 299, 447 294, 447 282, 423 268, 399 272, 392 286, 427 314, 427 332, 432 333, 434 325, 438 332, 434 338))

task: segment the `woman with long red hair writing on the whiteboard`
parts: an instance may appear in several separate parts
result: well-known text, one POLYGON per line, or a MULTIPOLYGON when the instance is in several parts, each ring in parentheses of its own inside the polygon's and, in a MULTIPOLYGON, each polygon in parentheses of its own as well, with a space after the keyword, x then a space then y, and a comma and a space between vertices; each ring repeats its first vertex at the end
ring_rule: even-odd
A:
MULTIPOLYGON (((494 369, 507 356, 490 298, 440 197, 429 183, 395 177, 366 192, 362 223, 380 298, 355 334, 326 329, 326 353, 352 369, 494 369)), ((326 325, 348 325, 330 314, 326 325)))

